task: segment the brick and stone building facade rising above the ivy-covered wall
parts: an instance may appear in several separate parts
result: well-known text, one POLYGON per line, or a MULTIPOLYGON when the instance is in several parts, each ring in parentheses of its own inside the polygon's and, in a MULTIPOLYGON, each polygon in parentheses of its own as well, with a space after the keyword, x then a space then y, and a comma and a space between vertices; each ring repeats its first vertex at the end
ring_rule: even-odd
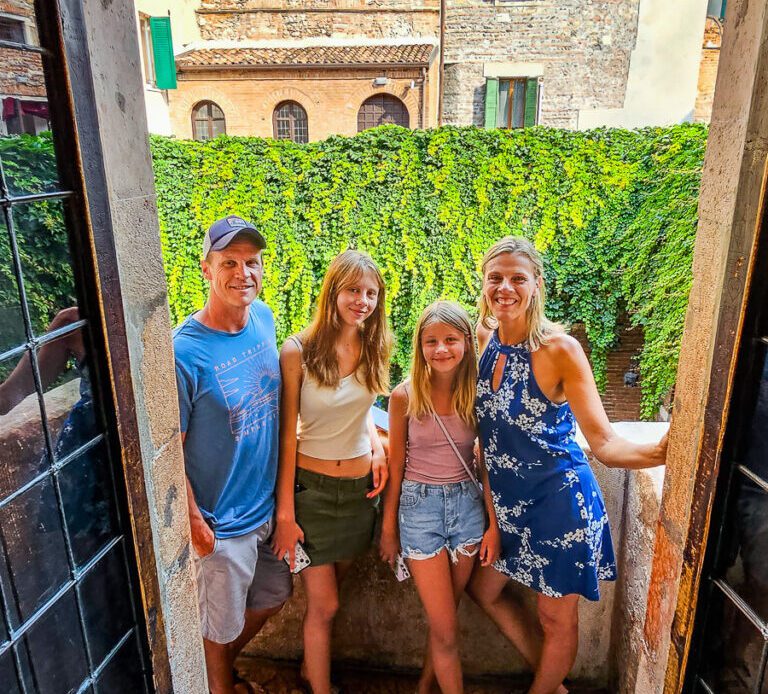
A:
MULTIPOLYGON (((226 131, 254 135, 276 134, 270 126, 272 114, 261 102, 273 106, 277 92, 287 90, 307 120, 310 111, 315 112, 309 139, 356 132, 361 97, 375 94, 388 94, 405 105, 406 96, 414 93, 415 99, 405 105, 411 127, 440 123, 638 127, 692 120, 694 111, 698 117, 701 110, 697 81, 707 0, 672 4, 664 0, 177 0, 175 4, 179 5, 177 15, 188 15, 190 4, 195 6, 198 31, 196 40, 176 49, 180 83, 178 92, 167 99, 171 129, 181 137, 193 134, 192 111, 209 90, 218 95, 219 101, 210 97, 216 114, 223 117, 218 121, 232 123, 234 129, 226 125, 226 131), (252 62, 229 59, 206 71, 200 64, 190 65, 186 55, 211 46, 375 45, 387 51, 405 44, 437 49, 426 66, 415 69, 397 61, 385 66, 384 61, 364 65, 317 58, 302 65, 279 61, 269 75, 266 63, 257 69, 252 62), (382 72, 382 67, 387 71, 382 72), (382 88, 386 82, 389 87, 382 88), (226 102, 227 108, 219 102, 226 102)), ((707 75, 716 72, 716 62, 711 69, 712 54, 705 51, 707 75)), ((211 112, 207 114, 210 119, 211 112)))

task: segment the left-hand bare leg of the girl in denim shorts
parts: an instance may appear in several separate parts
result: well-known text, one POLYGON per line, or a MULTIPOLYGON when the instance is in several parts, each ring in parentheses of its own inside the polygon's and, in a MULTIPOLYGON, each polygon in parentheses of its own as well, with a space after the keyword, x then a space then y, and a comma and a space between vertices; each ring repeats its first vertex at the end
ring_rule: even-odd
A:
MULTIPOLYGON (((448 552, 442 550, 437 556, 429 559, 410 560, 408 567, 427 613, 428 652, 434 663, 440 690, 443 694, 463 694, 456 599, 448 552)), ((423 675, 422 681, 419 682, 419 691, 429 691, 429 683, 424 681, 423 675), (427 689, 422 689, 422 683, 427 686, 427 689)))

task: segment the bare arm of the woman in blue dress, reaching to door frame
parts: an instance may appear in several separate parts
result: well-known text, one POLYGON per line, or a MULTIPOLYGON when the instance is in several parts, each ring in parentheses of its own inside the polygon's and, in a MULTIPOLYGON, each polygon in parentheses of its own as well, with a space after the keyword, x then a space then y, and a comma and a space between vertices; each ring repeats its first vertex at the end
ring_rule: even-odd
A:
POLYGON ((640 469, 663 465, 667 457, 667 435, 658 443, 637 444, 613 431, 597 392, 592 369, 581 345, 569 335, 560 335, 548 346, 558 369, 565 398, 576 416, 592 454, 607 467, 640 469))

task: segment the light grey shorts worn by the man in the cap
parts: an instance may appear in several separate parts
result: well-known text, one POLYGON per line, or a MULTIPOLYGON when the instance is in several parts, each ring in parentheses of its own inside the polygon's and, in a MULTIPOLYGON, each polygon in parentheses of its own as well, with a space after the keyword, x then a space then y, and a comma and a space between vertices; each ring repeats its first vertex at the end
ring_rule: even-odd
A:
POLYGON ((213 552, 195 557, 203 638, 230 643, 243 630, 245 611, 278 607, 293 592, 291 572, 267 544, 268 521, 239 537, 216 538, 213 552))

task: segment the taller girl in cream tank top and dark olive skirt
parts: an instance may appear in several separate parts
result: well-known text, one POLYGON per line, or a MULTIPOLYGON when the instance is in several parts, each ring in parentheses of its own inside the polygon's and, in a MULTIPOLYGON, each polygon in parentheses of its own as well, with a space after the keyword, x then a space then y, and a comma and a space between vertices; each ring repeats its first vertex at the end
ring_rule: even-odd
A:
POLYGON ((280 467, 277 556, 301 542, 311 564, 302 675, 329 694, 331 627, 339 585, 373 538, 378 495, 387 481, 384 449, 370 414, 388 389, 390 335, 384 282, 364 253, 337 256, 323 279, 309 327, 280 354, 280 467))

